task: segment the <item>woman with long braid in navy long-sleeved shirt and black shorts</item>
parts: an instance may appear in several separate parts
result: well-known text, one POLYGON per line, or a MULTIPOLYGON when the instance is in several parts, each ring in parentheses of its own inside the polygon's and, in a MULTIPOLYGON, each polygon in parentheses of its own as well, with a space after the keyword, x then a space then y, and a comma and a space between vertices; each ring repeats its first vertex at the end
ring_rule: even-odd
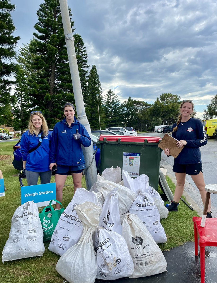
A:
MULTIPOLYGON (((178 211, 178 202, 184 192, 186 174, 191 175, 195 185, 199 189, 203 204, 206 199, 205 183, 203 179, 202 161, 200 148, 207 144, 207 135, 202 122, 199 119, 191 118, 193 113, 193 100, 183 100, 180 105, 178 121, 172 126, 172 137, 176 138, 177 147, 183 147, 180 154, 174 159, 172 171, 176 174, 176 189, 174 200, 167 207, 169 211, 178 211)), ((169 148, 165 154, 170 156, 169 148)), ((212 217, 210 202, 207 217, 212 217)))

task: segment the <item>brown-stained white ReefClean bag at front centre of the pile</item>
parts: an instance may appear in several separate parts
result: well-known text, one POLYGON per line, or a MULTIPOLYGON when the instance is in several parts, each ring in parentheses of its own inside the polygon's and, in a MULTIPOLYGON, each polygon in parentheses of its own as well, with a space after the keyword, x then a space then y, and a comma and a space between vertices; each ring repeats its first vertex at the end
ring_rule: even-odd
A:
POLYGON ((96 278, 115 280, 133 273, 133 261, 125 239, 113 231, 99 228, 96 245, 96 278))

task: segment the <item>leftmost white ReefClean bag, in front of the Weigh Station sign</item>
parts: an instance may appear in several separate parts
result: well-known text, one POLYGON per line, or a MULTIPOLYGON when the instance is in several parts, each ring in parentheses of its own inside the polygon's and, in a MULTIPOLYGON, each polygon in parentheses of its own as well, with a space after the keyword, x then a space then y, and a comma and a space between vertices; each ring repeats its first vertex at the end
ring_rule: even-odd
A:
POLYGON ((42 256, 45 251, 43 236, 37 204, 28 201, 20 205, 11 219, 9 238, 2 252, 2 262, 42 256))

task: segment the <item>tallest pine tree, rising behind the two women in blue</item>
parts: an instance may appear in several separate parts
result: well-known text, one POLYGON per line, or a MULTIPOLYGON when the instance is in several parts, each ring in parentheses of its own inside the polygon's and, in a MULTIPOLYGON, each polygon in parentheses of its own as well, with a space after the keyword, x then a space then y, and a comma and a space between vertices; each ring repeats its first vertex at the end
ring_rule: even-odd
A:
MULTIPOLYGON (((41 109, 49 127, 53 127, 62 118, 63 105, 74 102, 59 1, 45 0, 37 16, 34 26, 37 32, 29 44, 29 52, 34 54, 29 95, 32 107, 41 109)), ((72 21, 71 27, 73 32, 72 21)))

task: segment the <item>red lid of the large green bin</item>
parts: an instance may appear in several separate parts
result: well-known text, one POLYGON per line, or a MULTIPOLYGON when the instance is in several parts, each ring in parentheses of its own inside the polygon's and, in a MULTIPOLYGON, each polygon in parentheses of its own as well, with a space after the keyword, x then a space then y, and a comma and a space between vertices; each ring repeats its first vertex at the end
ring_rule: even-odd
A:
POLYGON ((118 139, 121 139, 121 141, 125 142, 143 142, 144 140, 147 140, 147 142, 153 142, 153 143, 159 143, 161 141, 161 138, 159 137, 150 137, 150 136, 117 136, 117 135, 100 135, 99 141, 103 141, 104 138, 106 138, 106 141, 118 141, 118 139))

